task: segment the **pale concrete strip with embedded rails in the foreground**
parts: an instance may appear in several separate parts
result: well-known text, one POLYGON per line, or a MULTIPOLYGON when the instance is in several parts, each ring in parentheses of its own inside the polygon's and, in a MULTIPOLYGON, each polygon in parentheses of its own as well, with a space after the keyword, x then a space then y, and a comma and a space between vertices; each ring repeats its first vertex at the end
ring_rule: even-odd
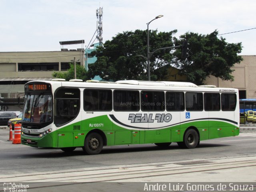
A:
POLYGON ((0 175, 0 182, 254 182, 256 156, 0 175))

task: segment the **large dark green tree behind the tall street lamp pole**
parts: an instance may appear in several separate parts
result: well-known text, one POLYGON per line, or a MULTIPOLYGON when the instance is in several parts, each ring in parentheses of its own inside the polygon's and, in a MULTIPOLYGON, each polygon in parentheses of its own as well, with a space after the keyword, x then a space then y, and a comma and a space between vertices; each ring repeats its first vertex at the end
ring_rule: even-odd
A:
MULTIPOLYGON (((171 32, 150 31, 150 51, 158 48, 173 46, 171 32)), ((136 79, 147 80, 147 31, 135 30, 117 34, 112 40, 99 46, 92 56, 97 57, 97 61, 89 64, 88 72, 93 78, 99 75, 104 80, 124 80, 136 79)), ((151 79, 156 80, 154 70, 165 65, 170 65, 172 54, 170 50, 156 52, 150 59, 151 79)))

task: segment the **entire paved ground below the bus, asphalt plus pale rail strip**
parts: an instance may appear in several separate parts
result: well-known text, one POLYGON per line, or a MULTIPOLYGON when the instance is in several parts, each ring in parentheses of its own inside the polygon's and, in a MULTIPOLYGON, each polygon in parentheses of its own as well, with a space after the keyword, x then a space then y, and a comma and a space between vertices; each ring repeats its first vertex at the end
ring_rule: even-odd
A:
POLYGON ((86 156, 79 148, 65 154, 58 149, 15 145, 7 141, 8 134, 0 130, 0 182, 33 182, 29 191, 124 187, 144 191, 148 182, 256 184, 256 133, 202 141, 193 150, 180 149, 175 143, 165 149, 154 144, 113 146, 96 156, 86 156))

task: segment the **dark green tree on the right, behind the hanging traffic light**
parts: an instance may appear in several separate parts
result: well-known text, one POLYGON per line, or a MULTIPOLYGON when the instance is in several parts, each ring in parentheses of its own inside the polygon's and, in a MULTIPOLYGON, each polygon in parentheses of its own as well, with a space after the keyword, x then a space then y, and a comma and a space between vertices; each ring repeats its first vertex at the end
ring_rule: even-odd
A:
POLYGON ((225 38, 218 38, 218 31, 202 35, 187 32, 175 40, 180 45, 184 40, 189 42, 188 57, 181 60, 181 50, 174 52, 173 66, 180 69, 180 74, 187 76, 189 82, 204 84, 206 77, 213 75, 222 80, 234 80, 232 66, 240 63, 242 57, 237 54, 242 51, 242 43, 227 43, 225 38))

